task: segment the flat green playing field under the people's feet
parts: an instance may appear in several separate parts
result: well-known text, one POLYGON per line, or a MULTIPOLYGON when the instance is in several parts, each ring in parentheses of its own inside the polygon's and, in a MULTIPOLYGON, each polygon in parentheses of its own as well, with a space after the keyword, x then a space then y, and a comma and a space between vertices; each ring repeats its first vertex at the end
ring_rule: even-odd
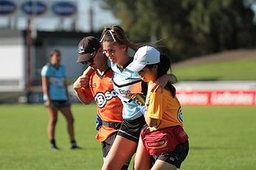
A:
MULTIPOLYGON (((42 105, 0 105, 0 169, 101 169, 95 105, 73 105, 72 110, 76 138, 83 149, 70 150, 66 123, 60 114, 56 141, 61 149, 53 152, 47 139, 48 116, 42 105)), ((181 169, 256 169, 256 107, 186 106, 183 119, 190 150, 181 169)))

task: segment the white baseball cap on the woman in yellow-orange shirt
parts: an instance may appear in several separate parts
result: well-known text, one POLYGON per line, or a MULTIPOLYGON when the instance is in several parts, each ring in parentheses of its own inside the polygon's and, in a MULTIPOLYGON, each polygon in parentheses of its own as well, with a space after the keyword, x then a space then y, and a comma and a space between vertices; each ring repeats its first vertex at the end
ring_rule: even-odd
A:
POLYGON ((141 71, 146 65, 160 63, 160 52, 152 46, 142 46, 134 55, 127 68, 130 71, 141 71))

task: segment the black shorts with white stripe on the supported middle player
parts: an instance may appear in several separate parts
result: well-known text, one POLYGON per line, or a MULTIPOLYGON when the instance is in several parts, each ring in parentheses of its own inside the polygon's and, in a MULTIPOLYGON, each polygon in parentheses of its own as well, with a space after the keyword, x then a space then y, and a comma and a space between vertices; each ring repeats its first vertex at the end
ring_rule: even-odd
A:
POLYGON ((126 120, 121 124, 120 130, 118 130, 118 135, 129 139, 130 141, 135 141, 138 144, 138 139, 140 138, 141 129, 146 124, 144 116, 135 118, 134 120, 126 120))

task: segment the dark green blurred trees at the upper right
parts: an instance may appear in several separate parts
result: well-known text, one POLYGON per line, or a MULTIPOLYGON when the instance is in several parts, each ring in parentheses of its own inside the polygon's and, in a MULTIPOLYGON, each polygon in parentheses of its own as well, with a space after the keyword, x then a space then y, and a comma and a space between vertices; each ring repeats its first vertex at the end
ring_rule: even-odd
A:
POLYGON ((252 0, 103 0, 134 42, 158 42, 172 60, 256 46, 252 0))

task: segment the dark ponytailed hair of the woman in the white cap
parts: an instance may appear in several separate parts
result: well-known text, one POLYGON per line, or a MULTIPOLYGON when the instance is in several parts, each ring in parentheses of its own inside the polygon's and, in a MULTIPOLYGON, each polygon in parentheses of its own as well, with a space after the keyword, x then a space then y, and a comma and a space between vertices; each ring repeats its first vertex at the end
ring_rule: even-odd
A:
MULTIPOLYGON (((152 68, 153 65, 155 65, 155 64, 146 65, 146 67, 152 68)), ((166 54, 160 54, 160 63, 157 63, 156 65, 158 65, 158 77, 161 77, 164 74, 167 74, 167 71, 169 69, 170 69, 170 71, 172 71, 171 62, 169 60, 169 57, 166 54)), ((172 97, 175 97, 176 89, 172 85, 171 82, 167 82, 165 88, 168 89, 172 93, 172 97)))

